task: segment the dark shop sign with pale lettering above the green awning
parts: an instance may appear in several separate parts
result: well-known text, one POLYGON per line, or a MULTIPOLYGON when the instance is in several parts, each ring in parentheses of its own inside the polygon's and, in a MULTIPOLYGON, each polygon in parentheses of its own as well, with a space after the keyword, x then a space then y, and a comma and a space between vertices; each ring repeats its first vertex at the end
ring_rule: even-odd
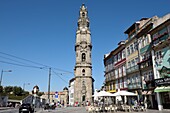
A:
POLYGON ((169 78, 155 79, 155 85, 156 85, 156 86, 166 86, 166 85, 170 85, 170 77, 169 77, 169 78))

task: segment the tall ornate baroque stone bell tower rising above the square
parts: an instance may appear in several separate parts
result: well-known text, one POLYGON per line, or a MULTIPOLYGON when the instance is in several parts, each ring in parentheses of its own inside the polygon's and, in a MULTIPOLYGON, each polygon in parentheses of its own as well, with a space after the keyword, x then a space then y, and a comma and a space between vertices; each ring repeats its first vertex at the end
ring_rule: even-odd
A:
POLYGON ((91 62, 91 33, 89 29, 87 8, 82 4, 79 12, 78 28, 76 31, 76 64, 74 69, 74 102, 92 101, 93 78, 91 62))

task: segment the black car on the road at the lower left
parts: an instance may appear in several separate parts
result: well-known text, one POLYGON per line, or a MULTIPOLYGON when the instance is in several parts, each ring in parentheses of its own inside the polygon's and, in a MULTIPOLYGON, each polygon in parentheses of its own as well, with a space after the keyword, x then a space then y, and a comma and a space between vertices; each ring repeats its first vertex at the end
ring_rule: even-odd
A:
POLYGON ((19 113, 34 113, 34 107, 29 104, 29 103, 23 103, 20 107, 19 107, 19 113))

